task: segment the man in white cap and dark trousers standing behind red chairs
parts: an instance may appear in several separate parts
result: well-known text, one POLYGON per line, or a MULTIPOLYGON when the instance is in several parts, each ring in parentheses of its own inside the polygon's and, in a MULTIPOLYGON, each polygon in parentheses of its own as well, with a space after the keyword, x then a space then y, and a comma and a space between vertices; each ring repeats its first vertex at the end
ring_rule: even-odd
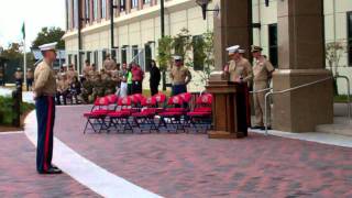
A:
POLYGON ((187 85, 191 80, 191 74, 184 66, 183 58, 180 56, 174 56, 175 65, 169 73, 169 77, 173 80, 173 96, 187 92, 187 85))

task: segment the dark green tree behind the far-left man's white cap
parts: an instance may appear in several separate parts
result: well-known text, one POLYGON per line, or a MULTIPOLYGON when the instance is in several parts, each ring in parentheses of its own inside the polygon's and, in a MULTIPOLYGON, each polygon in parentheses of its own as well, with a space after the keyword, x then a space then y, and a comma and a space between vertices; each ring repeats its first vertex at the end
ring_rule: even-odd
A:
POLYGON ((45 43, 53 43, 57 42, 57 48, 64 50, 65 48, 65 42, 62 40, 64 36, 65 31, 63 31, 61 28, 43 28, 41 32, 37 33, 36 38, 33 41, 32 46, 38 47, 40 45, 43 45, 45 43))

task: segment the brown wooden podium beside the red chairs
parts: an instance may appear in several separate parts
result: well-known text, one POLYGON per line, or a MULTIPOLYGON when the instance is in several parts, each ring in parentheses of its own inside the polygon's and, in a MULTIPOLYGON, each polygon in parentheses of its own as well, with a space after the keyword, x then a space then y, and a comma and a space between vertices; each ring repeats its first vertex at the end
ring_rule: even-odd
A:
POLYGON ((210 80, 207 91, 213 95, 213 130, 209 139, 241 139, 248 135, 245 85, 210 80))

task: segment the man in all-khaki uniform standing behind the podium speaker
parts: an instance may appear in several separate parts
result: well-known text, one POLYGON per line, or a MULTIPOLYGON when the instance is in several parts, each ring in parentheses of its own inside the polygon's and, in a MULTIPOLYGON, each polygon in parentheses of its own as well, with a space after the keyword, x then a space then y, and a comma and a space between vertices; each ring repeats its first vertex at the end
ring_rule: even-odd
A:
MULTIPOLYGON (((255 58, 255 65, 253 67, 254 74, 254 91, 260 91, 267 89, 270 87, 270 80, 272 74, 275 70, 270 61, 267 61, 263 55, 263 48, 260 46, 252 45, 252 54, 255 58)), ((264 130, 264 109, 265 109, 265 94, 267 91, 254 94, 254 110, 255 110, 255 127, 254 129, 264 130)), ((267 106, 267 114, 271 116, 271 108, 267 106)), ((267 120, 268 129, 271 129, 271 119, 267 120)))

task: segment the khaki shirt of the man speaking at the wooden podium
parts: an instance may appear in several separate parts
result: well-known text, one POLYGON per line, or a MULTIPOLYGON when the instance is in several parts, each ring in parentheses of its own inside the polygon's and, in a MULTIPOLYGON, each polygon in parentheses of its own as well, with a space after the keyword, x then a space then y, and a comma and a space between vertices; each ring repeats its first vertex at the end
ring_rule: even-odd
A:
POLYGON ((245 58, 238 62, 231 61, 229 65, 230 81, 239 81, 242 77, 243 81, 250 82, 253 78, 252 66, 245 58))

